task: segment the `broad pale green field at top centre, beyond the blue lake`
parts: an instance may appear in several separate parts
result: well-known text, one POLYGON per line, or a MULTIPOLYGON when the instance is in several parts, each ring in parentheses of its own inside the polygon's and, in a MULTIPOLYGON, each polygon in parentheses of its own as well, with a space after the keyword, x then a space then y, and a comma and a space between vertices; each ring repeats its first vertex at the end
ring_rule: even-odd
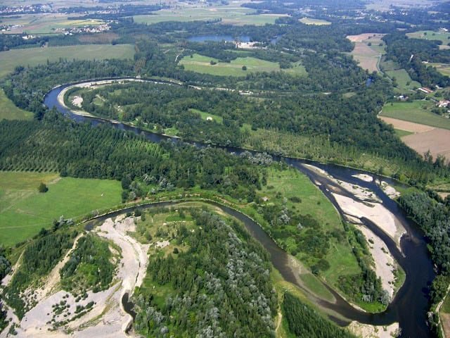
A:
POLYGON ((216 20, 221 18, 221 23, 231 25, 265 25, 274 24, 282 14, 253 14, 250 8, 235 6, 214 6, 207 8, 171 8, 155 12, 155 15, 135 15, 136 23, 160 23, 162 21, 194 21, 216 20))

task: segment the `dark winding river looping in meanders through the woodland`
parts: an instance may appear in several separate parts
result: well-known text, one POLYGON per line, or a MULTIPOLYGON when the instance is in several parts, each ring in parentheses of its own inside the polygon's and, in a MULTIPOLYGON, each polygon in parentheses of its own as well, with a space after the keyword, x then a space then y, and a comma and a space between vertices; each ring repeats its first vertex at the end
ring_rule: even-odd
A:
MULTIPOLYGON (((112 123, 108 120, 103 120, 100 118, 93 118, 84 115, 77 115, 72 113, 70 109, 66 108, 64 105, 60 104, 58 101, 58 95, 63 92, 64 89, 70 87, 72 84, 65 84, 60 87, 56 87, 49 92, 44 99, 44 104, 49 108, 56 108, 60 113, 68 115, 70 118, 76 120, 77 122, 89 122, 92 125, 98 125, 99 123, 107 123, 113 127, 119 128, 121 130, 130 130, 139 134, 144 134, 151 142, 161 142, 167 139, 173 139, 160 134, 154 134, 151 132, 146 132, 139 129, 138 127, 131 127, 129 125, 124 125, 122 123, 112 123)), ((179 139, 173 139, 174 142, 179 142, 179 139)), ((195 144, 195 146, 205 146, 205 144, 199 142, 190 142, 195 144)), ((236 148, 225 148, 230 152, 239 154, 243 149, 236 148)), ((254 152, 255 153, 255 152, 254 152)), ((342 210, 335 201, 333 195, 330 192, 329 187, 335 187, 335 182, 330 180, 328 177, 323 175, 318 175, 313 170, 309 169, 304 164, 313 164, 318 168, 326 170, 327 173, 332 175, 338 180, 343 180, 351 184, 357 184, 361 187, 371 189, 375 194, 377 194, 383 201, 383 206, 387 208, 391 213, 397 216, 401 225, 406 229, 406 234, 401 237, 401 252, 394 243, 394 241, 385 232, 380 230, 375 224, 371 223, 370 220, 363 219, 364 225, 368 227, 372 232, 374 232, 378 237, 383 239, 383 242, 387 245, 388 249, 392 253, 392 256, 401 265, 406 273, 406 280, 403 286, 399 289, 396 296, 388 306, 387 310, 383 313, 365 313, 364 311, 359 311, 353 306, 351 306, 345 299, 330 289, 330 292, 335 297, 336 301, 334 303, 324 301, 322 299, 314 299, 319 305, 327 308, 330 313, 330 318, 335 320, 336 323, 340 325, 346 325, 349 320, 357 320, 360 323, 366 323, 371 325, 389 325, 390 323, 399 322, 402 333, 401 337, 430 337, 430 330, 426 324, 427 320, 427 310, 428 310, 428 288, 432 279, 434 277, 433 265, 430 257, 428 255, 428 250, 426 246, 423 234, 418 230, 416 224, 413 221, 406 218, 404 212, 399 208, 399 206, 392 201, 380 187, 378 187, 375 182, 364 182, 359 180, 353 175, 365 173, 361 170, 356 170, 352 168, 345 168, 339 165, 323 164, 314 161, 299 160, 295 158, 285 158, 280 156, 274 156, 276 161, 285 161, 289 165, 300 170, 302 173, 306 174, 312 182, 315 182, 319 189, 325 194, 328 199, 338 208, 341 215, 343 215, 342 210), (333 315, 335 313, 336 315, 333 315), (342 318, 346 318, 343 320, 342 318)), ((372 173, 368 173, 374 176, 372 173)), ((375 175, 376 176, 376 175, 375 175)), ((375 177, 377 178, 377 177, 375 177)), ((392 183, 391 180, 383 177, 383 180, 387 183, 392 183)), ((352 194, 346 193, 345 191, 340 192, 340 194, 345 194, 346 196, 355 199, 352 194)), ((211 202, 212 203, 212 202, 211 202)), ((148 204, 146 208, 151 208, 153 206, 171 206, 176 204, 176 202, 160 202, 158 204, 148 204)), ((214 204, 214 203, 212 203, 214 204)), ((302 288, 297 278, 297 272, 294 266, 290 263, 290 256, 288 256, 285 251, 283 251, 272 239, 269 237, 264 230, 248 216, 240 213, 227 206, 221 206, 215 204, 215 206, 221 208, 224 212, 232 215, 235 218, 241 220, 248 231, 252 234, 255 239, 257 239, 264 248, 271 254, 271 263, 274 267, 283 275, 284 279, 288 282, 296 284, 298 287, 302 288)), ((132 208, 130 208, 132 209, 132 208)), ((98 219, 102 220, 105 218, 113 217, 119 213, 124 213, 125 211, 116 211, 109 213, 108 215, 100 216, 98 219)), ((311 296, 314 298, 314 296, 311 296)))

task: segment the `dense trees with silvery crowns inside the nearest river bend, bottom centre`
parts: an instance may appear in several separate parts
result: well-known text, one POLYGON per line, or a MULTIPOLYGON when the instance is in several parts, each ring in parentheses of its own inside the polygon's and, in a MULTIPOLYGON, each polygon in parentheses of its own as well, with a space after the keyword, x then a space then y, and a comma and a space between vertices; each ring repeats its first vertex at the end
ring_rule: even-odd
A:
POLYGON ((195 231, 176 236, 187 250, 150 258, 146 278, 156 288, 136 292, 135 329, 146 337, 274 337, 266 251, 238 223, 191 215, 195 231))

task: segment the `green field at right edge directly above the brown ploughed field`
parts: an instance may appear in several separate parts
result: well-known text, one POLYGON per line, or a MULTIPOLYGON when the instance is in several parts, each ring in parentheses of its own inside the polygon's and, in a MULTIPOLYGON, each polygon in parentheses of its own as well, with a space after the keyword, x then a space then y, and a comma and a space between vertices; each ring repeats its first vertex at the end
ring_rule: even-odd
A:
POLYGON ((393 104, 386 104, 381 115, 422 125, 450 129, 450 120, 432 113, 431 108, 433 106, 434 104, 429 101, 394 102, 393 104))

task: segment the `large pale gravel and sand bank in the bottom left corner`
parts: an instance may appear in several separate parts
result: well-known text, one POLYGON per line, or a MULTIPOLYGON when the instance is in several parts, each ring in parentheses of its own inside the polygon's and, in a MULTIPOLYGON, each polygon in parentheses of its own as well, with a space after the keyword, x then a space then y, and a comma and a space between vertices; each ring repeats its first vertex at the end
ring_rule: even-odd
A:
POLYGON ((66 255, 49 275, 48 280, 51 281, 49 285, 37 290, 41 299, 37 306, 25 314, 20 327, 16 329, 18 331, 16 337, 129 337, 124 330, 129 325, 131 316, 122 308, 122 296, 126 292, 132 294, 134 288, 142 284, 148 264, 148 244, 140 244, 127 235, 127 232, 134 231, 134 227, 133 218, 121 217, 117 218, 116 222, 109 218, 95 230, 99 236, 110 239, 120 246, 122 251, 122 259, 118 263, 113 286, 102 292, 87 292, 87 298, 78 302, 70 292, 56 292, 59 270, 69 254, 66 255), (49 295, 49 292, 53 294, 49 295), (53 317, 53 306, 61 301, 65 301, 66 308, 53 317), (90 302, 94 302, 91 310, 81 318, 75 318, 77 306, 86 306, 90 302), (67 319, 71 321, 50 332, 49 329, 53 326, 50 322, 53 318, 56 322, 67 319))

